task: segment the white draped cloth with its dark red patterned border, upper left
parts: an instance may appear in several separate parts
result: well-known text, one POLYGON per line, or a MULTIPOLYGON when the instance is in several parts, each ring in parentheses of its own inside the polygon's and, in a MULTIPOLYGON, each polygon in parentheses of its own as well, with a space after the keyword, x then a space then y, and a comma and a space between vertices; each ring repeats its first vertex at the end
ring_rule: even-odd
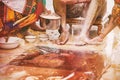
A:
POLYGON ((2 0, 2 2, 12 10, 26 15, 34 12, 36 4, 46 4, 45 0, 2 0))

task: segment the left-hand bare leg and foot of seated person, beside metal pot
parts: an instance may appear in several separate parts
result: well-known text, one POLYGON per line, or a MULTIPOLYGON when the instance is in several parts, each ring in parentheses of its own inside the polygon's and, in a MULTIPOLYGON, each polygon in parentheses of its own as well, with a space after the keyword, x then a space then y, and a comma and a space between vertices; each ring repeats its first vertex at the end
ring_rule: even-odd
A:
POLYGON ((61 16, 62 26, 62 33, 56 43, 63 45, 69 39, 69 28, 66 26, 66 4, 61 3, 60 0, 53 0, 53 3, 55 12, 61 16))

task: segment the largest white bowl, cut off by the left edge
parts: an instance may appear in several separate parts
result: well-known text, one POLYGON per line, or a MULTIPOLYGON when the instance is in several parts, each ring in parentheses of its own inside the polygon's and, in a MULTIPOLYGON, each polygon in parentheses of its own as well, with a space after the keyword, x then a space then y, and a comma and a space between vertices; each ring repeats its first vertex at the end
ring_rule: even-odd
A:
POLYGON ((17 48, 19 45, 19 38, 17 37, 9 37, 7 42, 4 37, 0 38, 0 48, 2 49, 13 49, 17 48))

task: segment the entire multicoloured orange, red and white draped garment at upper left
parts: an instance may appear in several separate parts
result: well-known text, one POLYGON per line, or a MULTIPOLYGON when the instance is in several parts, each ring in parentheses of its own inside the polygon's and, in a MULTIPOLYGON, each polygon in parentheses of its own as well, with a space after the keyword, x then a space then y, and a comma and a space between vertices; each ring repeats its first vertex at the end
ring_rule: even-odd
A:
POLYGON ((2 0, 0 2, 0 36, 19 31, 34 23, 44 11, 46 0, 2 0), (15 23, 15 25, 14 25, 15 23))

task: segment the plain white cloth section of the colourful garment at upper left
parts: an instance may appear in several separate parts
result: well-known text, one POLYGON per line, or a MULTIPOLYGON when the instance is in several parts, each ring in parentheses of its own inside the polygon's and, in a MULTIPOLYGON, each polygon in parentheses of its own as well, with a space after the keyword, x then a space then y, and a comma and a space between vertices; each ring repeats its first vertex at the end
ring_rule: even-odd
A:
POLYGON ((22 13, 26 4, 26 0, 2 0, 2 2, 12 10, 22 13))

